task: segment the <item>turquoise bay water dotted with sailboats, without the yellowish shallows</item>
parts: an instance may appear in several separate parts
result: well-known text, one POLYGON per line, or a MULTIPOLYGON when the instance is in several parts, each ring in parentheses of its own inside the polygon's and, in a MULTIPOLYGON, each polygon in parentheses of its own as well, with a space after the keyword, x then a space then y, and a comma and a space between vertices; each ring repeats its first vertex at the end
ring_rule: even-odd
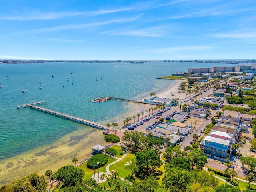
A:
MULTIPOLYGON (((17 110, 17 105, 45 100, 44 108, 105 124, 108 119, 126 112, 126 108, 122 108, 125 103, 117 100, 92 103, 89 100, 102 96, 142 99, 173 83, 156 77, 210 66, 223 64, 52 62, 0 65, 3 86, 0 89, 0 160, 40 146, 50 146, 65 135, 86 128, 36 110, 17 110), (40 81, 42 89, 39 89, 40 81), (24 86, 26 93, 22 93, 24 86)), ((88 131, 90 134, 94 130, 88 128, 88 131)))

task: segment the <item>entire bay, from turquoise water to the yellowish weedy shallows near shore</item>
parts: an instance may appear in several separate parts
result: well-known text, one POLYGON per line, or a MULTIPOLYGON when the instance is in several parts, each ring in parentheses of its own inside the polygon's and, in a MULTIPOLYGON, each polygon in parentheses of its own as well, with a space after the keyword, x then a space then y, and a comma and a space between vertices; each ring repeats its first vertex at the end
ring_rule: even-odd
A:
POLYGON ((31 172, 44 175, 47 169, 55 171, 72 164, 73 157, 82 162, 90 157, 92 146, 107 145, 101 130, 30 108, 17 110, 16 106, 45 100, 46 104, 41 105, 44 108, 104 125, 120 122, 119 127, 123 119, 147 106, 118 100, 103 103, 89 100, 103 96, 139 100, 175 83, 157 77, 187 72, 188 68, 223 65, 176 62, 1 64, 0 186, 31 172), (27 92, 22 93, 24 89, 27 92))

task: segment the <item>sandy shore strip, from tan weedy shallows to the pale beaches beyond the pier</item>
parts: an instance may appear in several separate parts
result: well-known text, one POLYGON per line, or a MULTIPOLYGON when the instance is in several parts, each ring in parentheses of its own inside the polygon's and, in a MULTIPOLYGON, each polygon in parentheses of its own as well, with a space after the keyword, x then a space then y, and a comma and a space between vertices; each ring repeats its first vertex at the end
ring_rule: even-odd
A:
MULTIPOLYGON (((183 81, 184 80, 172 81, 175 83, 172 83, 162 91, 156 92, 156 96, 169 97, 172 92, 175 92, 175 95, 172 97, 177 97, 178 94, 176 94, 176 92, 178 93, 178 87, 183 81)), ((162 84, 168 82, 169 81, 160 83, 162 84)), ((152 106, 149 104, 126 102, 124 104, 124 113, 101 123, 118 122, 118 127, 122 127, 122 120, 128 118, 129 116, 132 118, 134 115, 136 116, 135 120, 137 120, 138 116, 136 114, 144 112, 150 107, 152 106)), ((131 122, 133 121, 134 119, 132 118, 131 122)), ((104 141, 102 130, 95 130, 94 128, 90 127, 84 128, 84 126, 80 125, 78 130, 60 138, 53 144, 41 146, 12 158, 2 160, 0 166, 0 176, 4 179, 1 180, 0 186, 9 184, 10 182, 32 172, 37 172, 40 175, 44 175, 47 169, 54 172, 61 166, 73 164, 72 158, 74 157, 78 158, 78 162, 82 162, 87 158, 90 158, 92 152, 91 147, 96 144, 101 144, 103 146, 108 145, 108 143, 104 141)))

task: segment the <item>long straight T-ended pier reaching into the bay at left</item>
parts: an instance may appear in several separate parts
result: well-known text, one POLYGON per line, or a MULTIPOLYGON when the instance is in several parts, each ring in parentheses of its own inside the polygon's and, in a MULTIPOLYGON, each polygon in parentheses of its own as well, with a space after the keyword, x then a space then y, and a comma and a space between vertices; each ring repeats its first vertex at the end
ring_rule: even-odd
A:
POLYGON ((48 110, 46 108, 42 108, 42 107, 34 105, 34 104, 39 105, 39 104, 42 104, 42 103, 45 103, 45 101, 36 102, 36 103, 32 103, 32 104, 20 105, 20 106, 17 106, 17 109, 28 107, 28 108, 31 108, 31 109, 34 109, 34 110, 38 110, 38 111, 41 111, 41 112, 44 112, 44 113, 48 113, 50 115, 54 115, 54 116, 57 116, 57 117, 60 117, 60 118, 70 120, 70 121, 78 122, 80 124, 91 126, 93 128, 98 128, 98 129, 101 129, 101 130, 107 130, 108 129, 107 126, 104 126, 104 125, 101 125, 101 124, 98 124, 98 123, 95 123, 95 122, 92 122, 92 121, 84 120, 84 119, 77 118, 77 117, 74 117, 74 116, 71 116, 71 115, 68 115, 68 114, 64 114, 64 113, 61 113, 61 112, 56 112, 56 111, 53 111, 53 110, 48 110))

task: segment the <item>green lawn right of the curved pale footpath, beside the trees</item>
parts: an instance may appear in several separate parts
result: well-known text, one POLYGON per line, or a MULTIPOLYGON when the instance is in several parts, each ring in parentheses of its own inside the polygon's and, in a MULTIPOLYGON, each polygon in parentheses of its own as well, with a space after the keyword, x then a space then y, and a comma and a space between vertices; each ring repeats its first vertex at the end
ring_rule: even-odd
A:
POLYGON ((126 176, 131 174, 131 171, 129 169, 125 168, 126 167, 125 164, 128 164, 133 159, 135 159, 135 155, 128 153, 125 158, 123 158, 119 162, 116 162, 115 164, 111 165, 109 170, 110 171, 115 170, 119 174, 120 177, 125 178, 126 176))

